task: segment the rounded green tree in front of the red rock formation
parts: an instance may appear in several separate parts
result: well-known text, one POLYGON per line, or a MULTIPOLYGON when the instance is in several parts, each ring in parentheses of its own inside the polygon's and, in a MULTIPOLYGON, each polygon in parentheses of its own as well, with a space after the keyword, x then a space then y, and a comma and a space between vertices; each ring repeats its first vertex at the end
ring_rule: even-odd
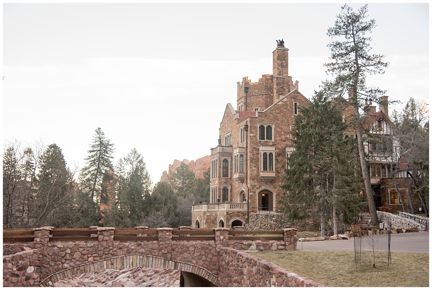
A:
POLYGON ((181 196, 189 196, 194 193, 194 189, 197 186, 197 179, 195 173, 189 169, 187 164, 182 163, 179 167, 175 168, 175 172, 169 177, 169 183, 171 184, 174 192, 177 192, 181 196))

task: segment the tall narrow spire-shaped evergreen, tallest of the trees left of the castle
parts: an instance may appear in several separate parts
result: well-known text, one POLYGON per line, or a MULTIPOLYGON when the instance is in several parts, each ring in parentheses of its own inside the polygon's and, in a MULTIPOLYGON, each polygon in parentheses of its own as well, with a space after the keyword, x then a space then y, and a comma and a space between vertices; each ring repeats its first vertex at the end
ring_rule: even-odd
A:
POLYGON ((86 166, 81 170, 81 185, 83 192, 89 194, 90 198, 99 202, 101 197, 101 183, 104 172, 112 169, 112 156, 114 144, 105 137, 105 133, 98 127, 93 136, 93 142, 87 151, 89 156, 85 159, 86 166))

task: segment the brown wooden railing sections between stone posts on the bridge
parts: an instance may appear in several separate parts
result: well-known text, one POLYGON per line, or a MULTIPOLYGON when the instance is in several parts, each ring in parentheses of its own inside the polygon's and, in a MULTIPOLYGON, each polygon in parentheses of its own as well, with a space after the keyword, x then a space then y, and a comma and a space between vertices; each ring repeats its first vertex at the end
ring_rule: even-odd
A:
MULTIPOLYGON (((25 243, 34 241, 33 229, 3 229, 3 243, 25 243)), ((283 230, 229 230, 231 241, 283 241, 283 230)), ((157 241, 157 228, 135 229, 116 228, 114 241, 157 241)), ((172 230, 173 241, 215 241, 214 229, 179 229, 172 230)), ((90 242, 98 241, 98 230, 88 228, 59 228, 50 230, 49 242, 90 242)))

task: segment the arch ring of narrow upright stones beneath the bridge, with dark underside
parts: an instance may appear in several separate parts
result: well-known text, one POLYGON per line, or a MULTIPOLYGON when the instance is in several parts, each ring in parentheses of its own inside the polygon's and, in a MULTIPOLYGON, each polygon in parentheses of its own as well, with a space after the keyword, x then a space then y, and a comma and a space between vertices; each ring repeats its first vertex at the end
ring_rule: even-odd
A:
POLYGON ((156 256, 132 254, 105 258, 95 262, 76 265, 62 271, 57 271, 56 273, 51 274, 50 276, 42 280, 39 286, 49 287, 64 278, 87 272, 94 272, 111 268, 135 267, 180 270, 181 274, 183 275, 184 287, 216 287, 218 281, 217 275, 197 265, 192 265, 189 263, 174 261, 156 256))

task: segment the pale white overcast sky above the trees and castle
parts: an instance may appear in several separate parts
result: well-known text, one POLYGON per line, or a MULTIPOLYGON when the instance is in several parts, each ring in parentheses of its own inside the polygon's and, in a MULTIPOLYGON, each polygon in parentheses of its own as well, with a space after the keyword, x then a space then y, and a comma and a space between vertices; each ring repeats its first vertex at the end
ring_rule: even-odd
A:
MULTIPOLYGON (((236 83, 272 73, 276 39, 310 97, 341 5, 3 4, 3 140, 42 137, 83 166, 100 126, 114 163, 135 147, 156 183, 174 159, 210 154, 236 83)), ((390 110, 429 98, 429 4, 372 3, 369 16, 390 66, 368 85, 403 103, 390 110)))

